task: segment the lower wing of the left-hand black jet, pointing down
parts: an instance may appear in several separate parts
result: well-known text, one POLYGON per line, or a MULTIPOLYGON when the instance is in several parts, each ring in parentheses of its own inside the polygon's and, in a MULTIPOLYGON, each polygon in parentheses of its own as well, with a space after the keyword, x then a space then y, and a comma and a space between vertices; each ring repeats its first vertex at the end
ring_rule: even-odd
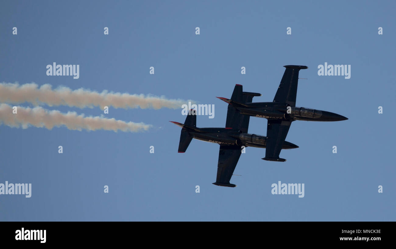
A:
POLYGON ((241 156, 241 146, 238 145, 220 145, 219 162, 217 163, 217 178, 213 184, 217 186, 236 187, 230 183, 232 173, 239 157, 241 156))

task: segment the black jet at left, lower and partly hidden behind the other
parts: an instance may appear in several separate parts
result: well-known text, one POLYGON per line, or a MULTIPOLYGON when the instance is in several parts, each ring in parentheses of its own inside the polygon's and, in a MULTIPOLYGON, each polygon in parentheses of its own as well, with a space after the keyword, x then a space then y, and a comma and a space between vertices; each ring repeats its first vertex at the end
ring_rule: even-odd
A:
MULTIPOLYGON (((261 96, 261 94, 243 92, 242 86, 236 85, 231 100, 242 104, 250 103, 254 96, 261 96)), ((169 121, 182 128, 178 152, 184 153, 193 138, 220 144, 217 178, 213 184, 236 187, 235 184, 230 183, 230 179, 241 155, 241 147, 265 148, 267 137, 247 133, 250 116, 240 114, 233 105, 228 105, 225 128, 198 128, 196 127, 195 111, 191 110, 190 112, 191 114, 187 116, 184 124, 169 121)), ((282 141, 282 149, 292 148, 298 148, 298 146, 282 141)))

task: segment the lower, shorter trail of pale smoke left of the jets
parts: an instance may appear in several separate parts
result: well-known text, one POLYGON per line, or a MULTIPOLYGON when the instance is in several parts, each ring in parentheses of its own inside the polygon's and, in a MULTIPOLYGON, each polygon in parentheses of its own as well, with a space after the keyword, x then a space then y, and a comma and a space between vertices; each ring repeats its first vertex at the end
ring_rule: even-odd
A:
POLYGON ((114 118, 103 117, 84 117, 84 114, 78 115, 76 112, 61 113, 58 110, 46 110, 40 106, 34 108, 17 106, 17 113, 13 114, 13 107, 7 104, 0 104, 0 124, 4 123, 10 127, 22 127, 26 129, 30 125, 34 127, 53 127, 66 126, 69 130, 86 129, 95 131, 98 129, 108 131, 129 131, 139 132, 146 131, 152 125, 144 123, 125 122, 115 120, 114 118))

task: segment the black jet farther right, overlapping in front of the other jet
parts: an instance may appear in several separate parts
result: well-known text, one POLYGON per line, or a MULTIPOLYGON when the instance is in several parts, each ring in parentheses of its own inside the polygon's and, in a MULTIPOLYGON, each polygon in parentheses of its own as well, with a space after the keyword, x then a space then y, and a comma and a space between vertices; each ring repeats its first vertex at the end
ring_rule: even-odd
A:
POLYGON ((279 154, 283 148, 291 122, 295 120, 341 121, 348 119, 333 112, 295 106, 298 74, 300 69, 307 69, 308 67, 295 65, 284 67, 286 67, 286 70, 272 102, 242 103, 234 99, 218 97, 228 103, 228 108, 230 108, 229 106, 234 106, 239 114, 267 118, 267 148, 265 150, 265 158, 262 158, 267 161, 286 161, 283 158, 279 158, 279 154))

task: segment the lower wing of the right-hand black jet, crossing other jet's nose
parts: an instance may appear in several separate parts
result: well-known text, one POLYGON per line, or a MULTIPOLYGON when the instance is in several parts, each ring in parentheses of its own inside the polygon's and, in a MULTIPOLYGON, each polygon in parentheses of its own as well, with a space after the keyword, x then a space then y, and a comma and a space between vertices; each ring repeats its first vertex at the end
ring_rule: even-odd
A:
POLYGON ((285 162, 286 159, 279 158, 280 150, 285 142, 287 132, 291 122, 282 120, 268 120, 267 125, 267 148, 265 149, 265 158, 267 161, 285 162))

